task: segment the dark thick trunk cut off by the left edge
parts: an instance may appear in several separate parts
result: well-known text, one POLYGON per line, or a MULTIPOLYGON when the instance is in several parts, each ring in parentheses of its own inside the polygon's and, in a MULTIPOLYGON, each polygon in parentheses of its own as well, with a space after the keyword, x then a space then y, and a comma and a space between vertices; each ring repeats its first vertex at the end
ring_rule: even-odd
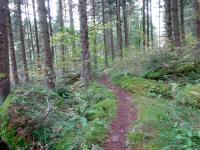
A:
POLYGON ((0 0, 0 103, 10 92, 8 50, 8 0, 0 0))

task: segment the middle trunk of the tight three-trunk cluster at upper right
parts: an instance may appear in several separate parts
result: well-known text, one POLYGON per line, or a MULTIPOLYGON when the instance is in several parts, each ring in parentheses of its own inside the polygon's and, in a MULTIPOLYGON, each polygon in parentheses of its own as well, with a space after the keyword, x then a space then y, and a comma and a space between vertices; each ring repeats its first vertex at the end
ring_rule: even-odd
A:
POLYGON ((178 0, 171 0, 172 5, 172 29, 173 29, 173 41, 175 47, 181 46, 180 40, 180 28, 179 28, 179 11, 178 11, 178 0))

